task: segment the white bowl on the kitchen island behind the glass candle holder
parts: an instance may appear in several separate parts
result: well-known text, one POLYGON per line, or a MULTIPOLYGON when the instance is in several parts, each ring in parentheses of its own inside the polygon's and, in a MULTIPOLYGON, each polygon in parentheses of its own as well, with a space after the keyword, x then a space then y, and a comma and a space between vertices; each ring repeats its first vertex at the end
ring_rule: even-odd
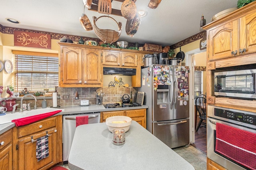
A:
POLYGON ((106 125, 108 126, 108 130, 112 132, 116 128, 122 128, 127 132, 132 123, 132 119, 127 116, 112 116, 106 119, 106 125), (125 121, 125 123, 117 123, 118 121, 125 121), (113 123, 116 122, 116 123, 113 123))

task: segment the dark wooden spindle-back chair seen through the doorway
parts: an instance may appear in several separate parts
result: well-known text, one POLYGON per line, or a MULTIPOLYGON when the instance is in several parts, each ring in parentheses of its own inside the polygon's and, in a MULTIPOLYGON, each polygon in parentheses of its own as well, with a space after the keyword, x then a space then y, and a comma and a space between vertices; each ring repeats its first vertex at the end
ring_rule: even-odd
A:
POLYGON ((196 111, 199 113, 200 121, 196 127, 196 132, 199 127, 206 127, 206 98, 196 98, 196 111), (201 126, 202 125, 202 126, 201 126))

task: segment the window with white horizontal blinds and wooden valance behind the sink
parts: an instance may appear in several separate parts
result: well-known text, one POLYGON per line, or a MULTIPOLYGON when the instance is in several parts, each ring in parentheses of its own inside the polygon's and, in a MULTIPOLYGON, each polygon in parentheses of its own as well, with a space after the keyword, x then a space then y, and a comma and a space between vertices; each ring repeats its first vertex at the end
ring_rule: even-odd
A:
MULTIPOLYGON (((13 53, 15 54, 15 51, 13 53)), ((58 54, 31 55, 31 52, 30 55, 15 54, 15 91, 22 91, 24 88, 28 91, 44 91, 44 89, 55 91, 56 86, 58 86, 58 54)))

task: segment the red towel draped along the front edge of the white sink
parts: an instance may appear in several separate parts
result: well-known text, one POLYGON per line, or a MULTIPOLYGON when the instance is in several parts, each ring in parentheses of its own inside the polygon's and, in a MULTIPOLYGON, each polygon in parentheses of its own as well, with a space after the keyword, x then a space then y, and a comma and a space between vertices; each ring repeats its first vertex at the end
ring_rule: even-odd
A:
POLYGON ((49 112, 49 113, 43 113, 40 115, 34 115, 34 116, 24 117, 24 118, 20 118, 20 119, 14 119, 14 120, 12 120, 12 122, 15 123, 16 127, 24 126, 24 125, 28 125, 28 124, 36 122, 36 121, 40 121, 46 117, 55 115, 56 113, 59 113, 61 111, 62 110, 58 110, 58 111, 53 111, 53 112, 49 112))

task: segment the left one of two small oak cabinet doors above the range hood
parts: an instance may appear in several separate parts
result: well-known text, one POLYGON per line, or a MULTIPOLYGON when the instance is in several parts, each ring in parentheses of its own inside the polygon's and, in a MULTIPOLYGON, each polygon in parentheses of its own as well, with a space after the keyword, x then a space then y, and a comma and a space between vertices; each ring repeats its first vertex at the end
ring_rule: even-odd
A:
POLYGON ((103 51, 102 52, 102 64, 103 65, 120 65, 120 52, 115 51, 103 51))

